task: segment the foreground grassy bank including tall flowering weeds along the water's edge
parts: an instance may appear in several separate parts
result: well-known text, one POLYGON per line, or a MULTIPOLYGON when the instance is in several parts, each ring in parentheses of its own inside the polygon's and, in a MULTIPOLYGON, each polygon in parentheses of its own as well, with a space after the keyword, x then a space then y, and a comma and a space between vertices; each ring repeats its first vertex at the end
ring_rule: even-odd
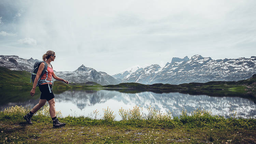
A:
POLYGON ((120 121, 111 119, 109 109, 101 119, 63 118, 58 112, 59 120, 67 125, 52 129, 47 105, 32 117, 33 125, 22 118, 29 108, 10 107, 0 112, 0 143, 256 143, 255 118, 224 118, 203 110, 170 117, 152 107, 148 109, 151 114, 145 116, 140 109, 121 108, 120 113, 128 112, 130 116, 120 121))

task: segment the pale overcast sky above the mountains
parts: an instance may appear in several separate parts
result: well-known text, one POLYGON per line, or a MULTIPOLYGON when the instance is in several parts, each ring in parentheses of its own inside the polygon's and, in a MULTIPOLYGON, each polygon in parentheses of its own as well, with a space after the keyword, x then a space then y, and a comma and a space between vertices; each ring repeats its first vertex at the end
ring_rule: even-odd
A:
POLYGON ((255 0, 0 1, 0 55, 110 75, 193 55, 256 56, 255 0))

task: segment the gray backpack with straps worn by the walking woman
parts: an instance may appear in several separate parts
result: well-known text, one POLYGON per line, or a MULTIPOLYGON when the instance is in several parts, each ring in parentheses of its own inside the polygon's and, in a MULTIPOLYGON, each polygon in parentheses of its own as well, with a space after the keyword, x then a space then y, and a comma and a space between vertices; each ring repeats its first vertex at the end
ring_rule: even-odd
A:
MULTIPOLYGON (((30 83, 31 83, 31 80, 32 82, 34 83, 35 81, 35 76, 37 75, 37 72, 38 72, 38 68, 40 66, 40 64, 44 62, 44 70, 42 71, 41 75, 39 76, 38 78, 38 82, 37 82, 37 86, 39 86, 40 84, 43 84, 43 83, 47 83, 47 82, 52 82, 53 84, 53 81, 47 81, 46 79, 48 78, 48 71, 47 71, 47 63, 45 61, 41 61, 41 60, 38 60, 34 63, 34 69, 33 71, 31 72, 31 78, 30 78, 30 83), (46 73, 46 78, 45 80, 41 80, 41 77, 46 73)), ((51 64, 51 67, 52 67, 52 64, 51 64)), ((53 68, 53 67, 52 67, 53 68)))

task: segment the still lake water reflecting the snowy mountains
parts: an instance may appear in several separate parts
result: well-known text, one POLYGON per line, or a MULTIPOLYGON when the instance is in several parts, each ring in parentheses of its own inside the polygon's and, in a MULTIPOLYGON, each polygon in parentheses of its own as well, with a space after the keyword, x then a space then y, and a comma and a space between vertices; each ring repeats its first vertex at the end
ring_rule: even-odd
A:
MULTIPOLYGON (((228 117, 236 113, 239 117, 256 117, 256 104, 253 100, 242 97, 214 97, 207 95, 190 95, 179 92, 155 92, 127 89, 86 89, 86 90, 53 90, 55 93, 56 111, 62 116, 89 116, 94 110, 99 111, 109 107, 116 114, 115 120, 121 117, 118 111, 132 109, 137 105, 147 114, 148 106, 155 107, 161 113, 171 112, 179 116, 183 110, 193 112, 197 109, 211 111, 213 115, 228 117)), ((40 91, 31 98, 30 90, 1 90, 0 110, 6 107, 22 105, 33 107, 40 99, 40 91)))

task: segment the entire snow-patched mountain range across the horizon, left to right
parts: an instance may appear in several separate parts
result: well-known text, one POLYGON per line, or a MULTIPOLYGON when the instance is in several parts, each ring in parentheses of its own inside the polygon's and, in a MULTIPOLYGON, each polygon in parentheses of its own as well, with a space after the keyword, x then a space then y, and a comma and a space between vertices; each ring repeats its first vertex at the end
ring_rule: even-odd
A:
MULTIPOLYGON (((24 70, 31 72, 37 59, 23 59, 18 56, 0 55, 0 67, 10 70, 24 70)), ((115 85, 125 82, 141 84, 182 84, 190 82, 205 83, 209 81, 239 81, 250 78, 256 73, 256 57, 218 59, 194 55, 190 59, 172 58, 161 68, 158 64, 142 68, 140 66, 127 69, 122 73, 108 75, 87 68, 83 64, 75 71, 55 71, 61 78, 74 83, 96 82, 101 85, 115 85)))

